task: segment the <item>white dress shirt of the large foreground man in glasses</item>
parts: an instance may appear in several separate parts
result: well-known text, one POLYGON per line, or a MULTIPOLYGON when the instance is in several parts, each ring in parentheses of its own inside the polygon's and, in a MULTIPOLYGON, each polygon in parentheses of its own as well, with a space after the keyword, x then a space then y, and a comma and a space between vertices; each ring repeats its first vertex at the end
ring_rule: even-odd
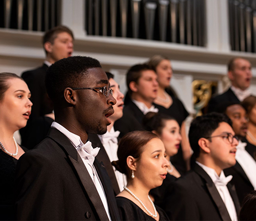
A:
MULTIPOLYGON (((56 128, 58 131, 63 133, 70 140, 70 143, 76 148, 76 150, 78 151, 80 156, 82 155, 81 147, 83 147, 83 146, 86 146, 88 152, 90 152, 90 153, 86 153, 86 155, 88 155, 88 157, 87 156, 86 157, 81 156, 81 158, 82 158, 84 166, 88 170, 88 172, 90 174, 90 177, 92 178, 93 183, 94 183, 94 185, 95 185, 95 187, 98 191, 98 194, 99 194, 99 196, 101 198, 101 201, 104 205, 104 208, 106 210, 106 214, 108 216, 108 219, 111 221, 105 191, 104 191, 104 188, 103 188, 102 183, 100 181, 100 178, 97 174, 97 171, 96 171, 96 169, 93 165, 94 157, 91 154, 93 152, 95 152, 96 148, 93 149, 92 143, 90 141, 87 141, 86 144, 83 144, 82 141, 81 141, 80 136, 78 136, 74 133, 71 133, 65 127, 61 126, 57 122, 53 122, 51 127, 56 128)), ((96 150, 96 152, 98 152, 99 149, 100 149, 99 147, 97 147, 97 148, 98 148, 98 150, 96 150)), ((94 154, 94 156, 95 156, 95 154, 94 154)))

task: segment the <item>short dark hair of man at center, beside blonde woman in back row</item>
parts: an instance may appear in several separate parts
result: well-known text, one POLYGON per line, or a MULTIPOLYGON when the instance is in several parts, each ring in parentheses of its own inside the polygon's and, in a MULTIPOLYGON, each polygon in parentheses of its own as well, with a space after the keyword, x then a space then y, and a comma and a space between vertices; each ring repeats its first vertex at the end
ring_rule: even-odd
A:
POLYGON ((129 95, 132 94, 132 90, 129 87, 130 82, 134 81, 135 83, 138 83, 141 77, 141 72, 147 70, 154 71, 154 69, 148 64, 138 64, 130 67, 126 75, 126 85, 128 88, 129 95))

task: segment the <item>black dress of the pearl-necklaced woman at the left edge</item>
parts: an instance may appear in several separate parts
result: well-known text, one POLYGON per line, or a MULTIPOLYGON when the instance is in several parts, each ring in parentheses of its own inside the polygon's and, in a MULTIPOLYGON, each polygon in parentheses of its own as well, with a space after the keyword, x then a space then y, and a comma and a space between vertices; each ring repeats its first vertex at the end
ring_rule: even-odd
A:
MULTIPOLYGON (((22 147, 23 151, 27 149, 22 147)), ((18 160, 0 149, 0 220, 15 220, 14 178, 18 160)))

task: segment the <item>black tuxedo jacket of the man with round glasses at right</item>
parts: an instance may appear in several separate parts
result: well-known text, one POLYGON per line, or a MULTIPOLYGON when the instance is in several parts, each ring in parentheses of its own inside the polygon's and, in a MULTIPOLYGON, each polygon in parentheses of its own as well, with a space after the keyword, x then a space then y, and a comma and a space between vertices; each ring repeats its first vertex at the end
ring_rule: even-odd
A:
MULTIPOLYGON (((227 185, 233 199, 237 214, 240 205, 235 188, 227 185)), ((230 221, 228 210, 208 174, 197 164, 185 176, 180 177, 172 185, 170 199, 173 220, 189 221, 230 221)))

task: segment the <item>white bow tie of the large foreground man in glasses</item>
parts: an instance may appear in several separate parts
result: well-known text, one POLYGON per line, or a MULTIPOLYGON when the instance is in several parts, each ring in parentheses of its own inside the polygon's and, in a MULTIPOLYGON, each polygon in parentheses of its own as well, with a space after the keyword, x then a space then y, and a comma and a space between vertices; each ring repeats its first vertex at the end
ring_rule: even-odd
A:
POLYGON ((81 145, 77 151, 79 152, 81 158, 87 158, 90 164, 93 165, 95 156, 99 153, 100 148, 96 147, 93 149, 92 143, 87 141, 85 144, 81 145))

